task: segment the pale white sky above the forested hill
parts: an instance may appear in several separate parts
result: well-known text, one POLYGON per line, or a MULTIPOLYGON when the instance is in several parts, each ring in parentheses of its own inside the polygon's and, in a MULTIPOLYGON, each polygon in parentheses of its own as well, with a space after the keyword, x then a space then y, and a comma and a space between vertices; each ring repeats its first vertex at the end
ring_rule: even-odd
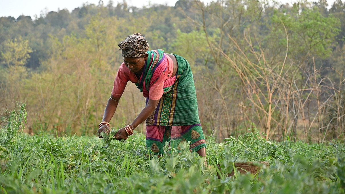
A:
MULTIPOLYGON (((113 0, 114 6, 117 2, 122 0, 113 0)), ((126 0, 129 6, 136 6, 142 8, 143 6, 149 6, 150 4, 167 4, 168 6, 174 6, 177 0, 126 0)), ((201 0, 208 3, 212 0, 201 0)), ((294 2, 295 0, 281 0, 280 2, 294 2)), ((317 0, 308 0, 317 1, 317 0)), ((18 18, 20 15, 31 16, 35 19, 35 15, 40 17, 40 13, 48 13, 50 11, 58 11, 58 9, 68 9, 72 11, 77 7, 81 7, 83 3, 86 4, 98 4, 99 0, 0 0, 0 17, 12 16, 18 18)), ((107 5, 109 0, 103 0, 103 3, 107 5)), ((331 6, 334 0, 327 0, 329 6, 331 6)))

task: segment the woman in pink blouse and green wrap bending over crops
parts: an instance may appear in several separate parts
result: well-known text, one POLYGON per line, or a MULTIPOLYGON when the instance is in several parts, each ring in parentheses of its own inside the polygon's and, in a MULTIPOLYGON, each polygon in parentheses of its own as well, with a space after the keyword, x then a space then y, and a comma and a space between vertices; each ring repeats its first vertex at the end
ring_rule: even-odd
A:
POLYGON ((146 97, 146 107, 137 118, 121 128, 115 138, 127 139, 146 120, 146 146, 155 154, 163 154, 166 142, 179 149, 181 141, 190 142, 190 150, 206 157, 206 143, 198 116, 193 74, 187 60, 163 50, 149 51, 140 33, 119 43, 124 63, 114 81, 111 96, 99 124, 98 136, 109 134, 110 119, 128 81, 135 83, 146 97))

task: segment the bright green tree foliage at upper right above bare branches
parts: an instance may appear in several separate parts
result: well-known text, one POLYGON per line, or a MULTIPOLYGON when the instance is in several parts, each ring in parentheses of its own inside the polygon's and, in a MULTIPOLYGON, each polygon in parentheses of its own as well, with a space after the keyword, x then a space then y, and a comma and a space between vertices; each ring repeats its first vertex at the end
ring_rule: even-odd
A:
POLYGON ((299 7, 295 7, 290 13, 277 12, 272 22, 280 25, 283 33, 285 32, 282 25, 287 29, 289 49, 295 57, 329 57, 335 37, 340 32, 339 20, 332 15, 322 16, 317 8, 300 10, 299 7))

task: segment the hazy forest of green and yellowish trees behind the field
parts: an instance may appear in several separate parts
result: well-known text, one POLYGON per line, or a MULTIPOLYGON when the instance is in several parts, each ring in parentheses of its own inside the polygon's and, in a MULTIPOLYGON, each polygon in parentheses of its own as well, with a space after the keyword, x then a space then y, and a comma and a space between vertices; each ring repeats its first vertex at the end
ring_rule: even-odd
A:
MULTIPOLYGON (((179 0, 142 8, 100 1, 1 17, 0 112, 27 104, 31 135, 96 134, 122 62, 118 43, 136 32, 151 50, 189 61, 206 135, 221 140, 255 129, 266 140, 344 139, 341 0, 179 0)), ((144 101, 128 84, 111 125, 130 123, 144 101)))

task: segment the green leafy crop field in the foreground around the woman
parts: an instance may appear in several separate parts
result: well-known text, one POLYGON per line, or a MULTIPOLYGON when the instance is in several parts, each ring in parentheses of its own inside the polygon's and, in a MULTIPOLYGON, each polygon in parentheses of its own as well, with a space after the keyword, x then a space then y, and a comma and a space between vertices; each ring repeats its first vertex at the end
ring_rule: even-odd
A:
POLYGON ((344 193, 345 144, 266 142, 257 132, 216 143, 207 163, 188 144, 150 155, 145 136, 126 142, 96 136, 20 133, 25 111, 0 133, 0 193, 344 193), (228 177, 233 162, 268 161, 258 174, 228 177), (215 167, 220 164, 220 168, 215 167))

